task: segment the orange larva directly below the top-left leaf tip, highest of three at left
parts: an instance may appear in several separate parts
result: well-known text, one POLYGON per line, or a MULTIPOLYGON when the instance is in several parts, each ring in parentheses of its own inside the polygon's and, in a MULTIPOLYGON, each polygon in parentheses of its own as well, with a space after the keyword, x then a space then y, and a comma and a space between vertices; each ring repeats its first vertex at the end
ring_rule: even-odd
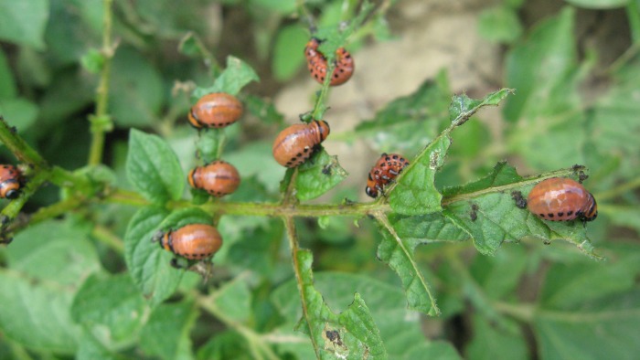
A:
POLYGON ((189 111, 189 122, 197 129, 223 128, 237 122, 242 116, 242 103, 225 92, 207 94, 189 111))

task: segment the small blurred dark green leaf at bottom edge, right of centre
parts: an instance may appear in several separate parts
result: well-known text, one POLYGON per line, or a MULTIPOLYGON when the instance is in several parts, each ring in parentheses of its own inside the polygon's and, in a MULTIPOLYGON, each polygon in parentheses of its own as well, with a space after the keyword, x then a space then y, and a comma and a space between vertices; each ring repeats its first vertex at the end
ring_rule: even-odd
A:
MULTIPOLYGON (((513 328, 517 323, 510 321, 513 328)), ((472 341, 468 344, 465 355, 470 359, 527 359, 529 351, 525 336, 519 329, 516 334, 496 327, 483 316, 473 317, 472 341)))

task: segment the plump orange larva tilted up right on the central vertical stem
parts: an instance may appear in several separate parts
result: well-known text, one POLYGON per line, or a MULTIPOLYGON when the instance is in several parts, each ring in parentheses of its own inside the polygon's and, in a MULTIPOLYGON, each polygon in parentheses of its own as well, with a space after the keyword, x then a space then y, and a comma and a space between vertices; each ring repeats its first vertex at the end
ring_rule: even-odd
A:
POLYGON ((275 138, 273 158, 286 167, 303 164, 314 153, 315 147, 325 141, 329 132, 329 124, 322 120, 291 125, 275 138))

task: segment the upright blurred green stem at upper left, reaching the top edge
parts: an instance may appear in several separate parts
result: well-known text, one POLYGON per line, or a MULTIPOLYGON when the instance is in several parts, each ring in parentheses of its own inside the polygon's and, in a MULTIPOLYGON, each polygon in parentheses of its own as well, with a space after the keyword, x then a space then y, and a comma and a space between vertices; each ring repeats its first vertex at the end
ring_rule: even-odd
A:
POLYGON ((111 130, 112 122, 107 113, 109 106, 109 79, 111 78, 111 64, 114 53, 112 45, 112 2, 102 0, 104 15, 102 17, 102 55, 104 64, 100 76, 100 84, 96 90, 96 112, 91 116, 91 150, 89 164, 101 164, 104 151, 104 132, 111 130))

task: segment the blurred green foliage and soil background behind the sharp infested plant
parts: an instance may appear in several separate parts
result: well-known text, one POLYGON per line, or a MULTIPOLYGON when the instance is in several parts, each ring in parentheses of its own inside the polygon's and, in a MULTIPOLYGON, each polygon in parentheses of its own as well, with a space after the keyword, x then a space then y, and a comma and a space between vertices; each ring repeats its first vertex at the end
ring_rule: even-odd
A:
MULTIPOLYGON (((499 108, 453 132, 437 184, 464 184, 503 159, 521 175, 584 164, 585 186, 599 206, 588 233, 607 258, 594 262, 570 245, 537 239, 505 244, 495 257, 466 243, 419 247, 416 258, 443 311, 428 318, 406 309, 396 275, 376 259, 379 234, 371 222, 300 219, 299 238, 315 255, 316 287, 336 312, 360 292, 389 358, 640 354, 639 3, 383 1, 377 5, 384 16, 349 39, 356 74, 332 90, 325 149, 350 175, 320 201, 365 201, 366 175, 379 153, 411 158, 443 130, 429 120, 450 98, 433 109, 411 97, 425 81, 476 98, 514 88, 499 108)), ((277 201, 284 169, 272 160, 272 139, 313 108, 319 89, 304 66, 304 15, 321 28, 339 28, 358 5, 307 1, 305 14, 300 4, 113 1, 108 112, 115 126, 104 164, 114 185, 132 188, 124 175, 131 128, 162 136, 185 171, 197 164, 190 94, 210 86, 232 55, 260 82, 242 90, 248 114, 227 130, 223 157, 243 178, 228 200, 277 201)), ((87 164, 103 15, 99 0, 0 0, 0 114, 49 163, 69 170, 87 164)), ((0 155, 3 163, 16 161, 4 148, 0 155)), ((43 187, 25 211, 58 198, 55 186, 43 187)), ((300 304, 279 221, 223 217, 226 245, 213 287, 189 273, 169 302, 151 306, 124 266, 122 238, 135 210, 91 206, 27 228, 0 249, 0 358, 269 358, 256 353, 260 344, 278 358, 314 356, 308 338, 293 332, 300 304), (242 325, 229 326, 222 315, 242 325)))

